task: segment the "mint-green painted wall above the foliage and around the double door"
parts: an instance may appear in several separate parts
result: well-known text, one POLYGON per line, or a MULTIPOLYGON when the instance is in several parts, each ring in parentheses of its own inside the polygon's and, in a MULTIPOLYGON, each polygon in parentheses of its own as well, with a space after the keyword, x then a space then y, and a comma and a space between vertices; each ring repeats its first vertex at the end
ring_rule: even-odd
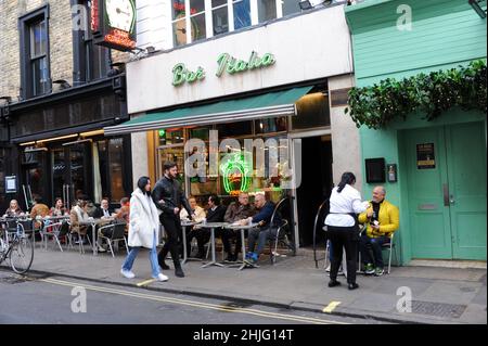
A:
MULTIPOLYGON (((462 0, 367 0, 346 8, 352 36, 356 85, 364 87, 382 79, 401 79, 419 73, 446 69, 468 64, 487 56, 487 23, 466 1, 462 0), (399 30, 399 5, 411 8, 412 30, 399 30)), ((435 121, 412 115, 388 130, 360 129, 362 158, 385 157, 387 164, 398 164, 398 182, 385 183, 387 198, 400 208, 400 231, 396 244, 401 264, 411 260, 409 241, 408 193, 402 179, 401 129, 439 126, 463 121, 485 121, 477 112, 452 110, 435 121)), ((364 167, 363 167, 364 169, 364 167)), ((365 181, 363 171, 363 181, 365 181)), ((363 195, 371 196, 373 185, 363 184, 363 195)))

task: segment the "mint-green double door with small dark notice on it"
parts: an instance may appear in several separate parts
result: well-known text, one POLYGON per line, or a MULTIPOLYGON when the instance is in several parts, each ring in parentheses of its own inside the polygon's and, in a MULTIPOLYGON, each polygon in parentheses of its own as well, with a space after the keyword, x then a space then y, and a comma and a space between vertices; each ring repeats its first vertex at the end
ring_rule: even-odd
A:
POLYGON ((413 258, 486 260, 483 123, 404 133, 413 258))

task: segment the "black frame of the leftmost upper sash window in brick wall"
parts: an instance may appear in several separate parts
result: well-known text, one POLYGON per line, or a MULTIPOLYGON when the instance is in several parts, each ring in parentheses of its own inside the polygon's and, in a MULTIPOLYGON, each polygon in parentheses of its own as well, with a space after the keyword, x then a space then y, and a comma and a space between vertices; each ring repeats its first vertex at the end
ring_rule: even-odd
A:
POLYGON ((20 53, 21 53, 21 98, 31 99, 41 97, 52 92, 52 79, 51 79, 51 51, 49 39, 49 3, 41 5, 40 8, 30 11, 18 17, 18 31, 20 31, 20 53), (46 52, 41 55, 33 59, 33 27, 37 23, 46 23, 46 52), (46 59, 47 65, 47 86, 43 93, 36 93, 36 87, 34 86, 34 68, 33 64, 36 60, 46 59))

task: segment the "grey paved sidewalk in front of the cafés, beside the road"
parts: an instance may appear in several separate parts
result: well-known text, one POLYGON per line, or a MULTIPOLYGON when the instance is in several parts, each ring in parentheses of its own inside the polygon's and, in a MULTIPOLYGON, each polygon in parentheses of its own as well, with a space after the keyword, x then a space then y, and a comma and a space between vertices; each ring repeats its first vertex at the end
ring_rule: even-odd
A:
MULTIPOLYGON (((323 257, 323 253, 320 254, 323 257)), ((217 254, 220 259, 221 254, 217 254)), ((317 269, 313 254, 299 249, 296 256, 279 257, 272 265, 267 256, 259 268, 202 268, 201 261, 183 265, 185 278, 176 278, 174 266, 163 273, 167 282, 151 279, 149 252, 142 251, 132 268, 134 279, 120 275, 125 252, 93 256, 69 249, 35 249, 29 274, 55 274, 125 286, 139 286, 168 293, 234 299, 247 304, 320 311, 345 317, 394 323, 487 323, 487 270, 478 268, 441 268, 426 266, 393 267, 390 274, 358 274, 358 290, 330 289, 323 261, 317 269)), ((9 270, 2 265, 3 270, 9 270)))

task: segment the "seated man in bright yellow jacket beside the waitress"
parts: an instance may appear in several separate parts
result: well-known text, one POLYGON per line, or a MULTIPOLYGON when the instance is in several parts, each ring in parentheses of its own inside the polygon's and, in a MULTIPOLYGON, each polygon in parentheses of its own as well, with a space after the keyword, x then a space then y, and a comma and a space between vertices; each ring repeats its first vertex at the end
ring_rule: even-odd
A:
POLYGON ((385 188, 375 187, 369 208, 359 215, 359 222, 367 227, 359 242, 364 272, 376 277, 384 273, 382 246, 389 242, 391 234, 400 226, 398 207, 386 201, 385 195, 385 188))

